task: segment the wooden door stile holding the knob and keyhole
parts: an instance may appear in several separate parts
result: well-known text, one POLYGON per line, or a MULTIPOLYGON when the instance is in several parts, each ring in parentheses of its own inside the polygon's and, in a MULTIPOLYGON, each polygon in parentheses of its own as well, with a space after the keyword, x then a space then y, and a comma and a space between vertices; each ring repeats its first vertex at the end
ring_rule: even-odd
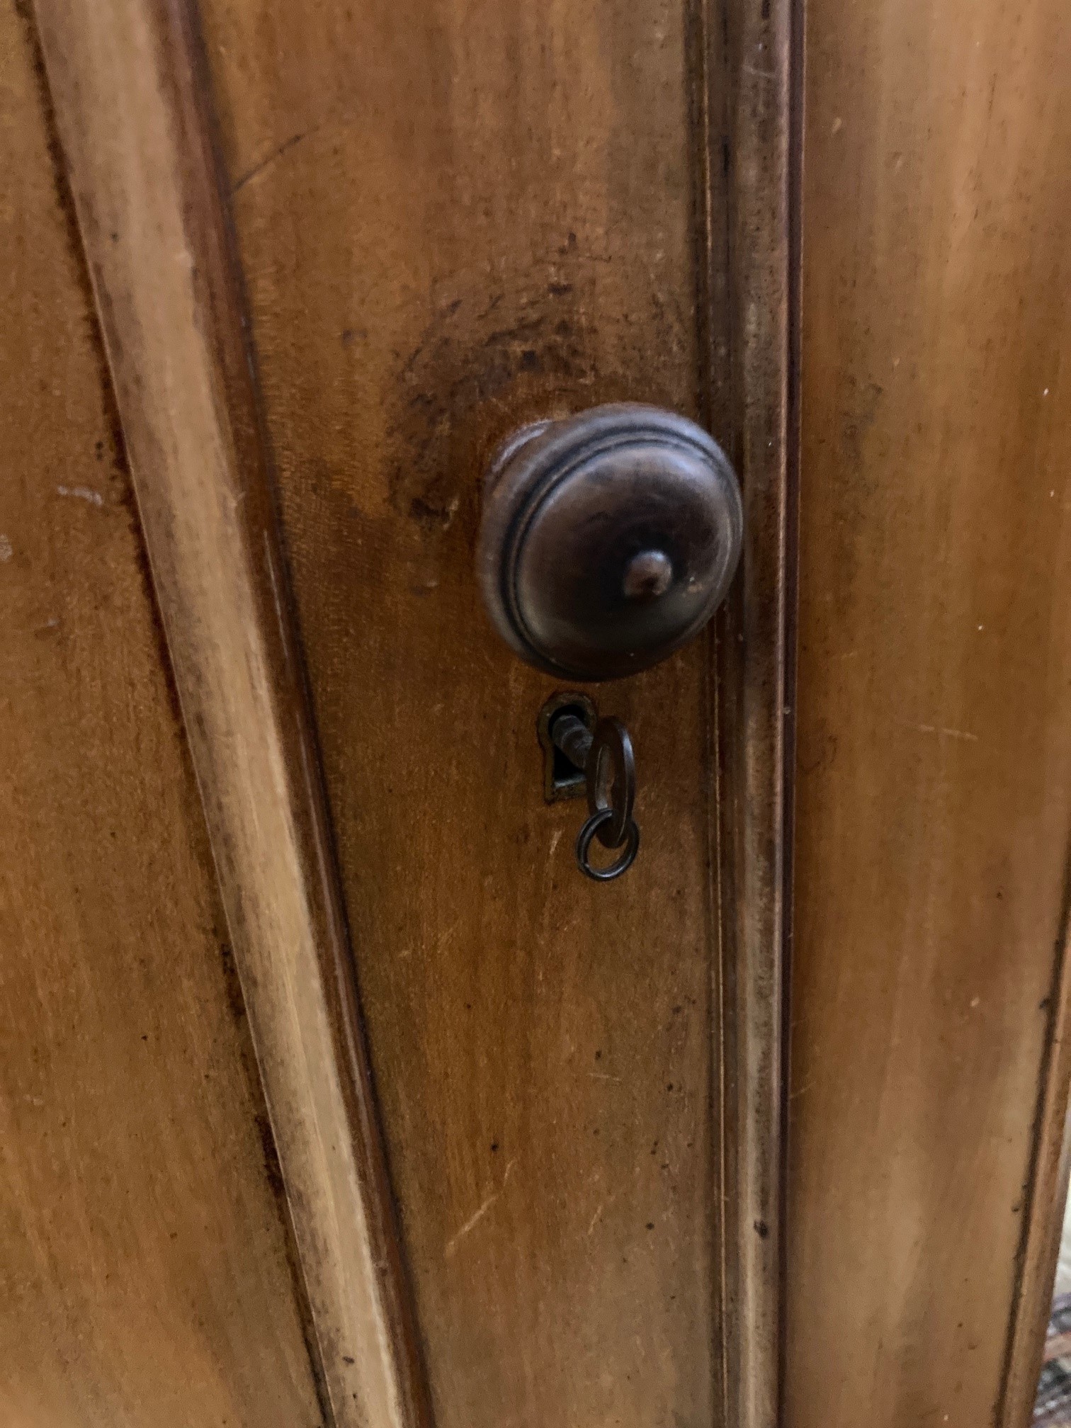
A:
POLYGON ((717 1421, 708 651, 588 885, 473 573, 514 426, 700 407, 684 9, 203 13, 437 1422, 717 1421))

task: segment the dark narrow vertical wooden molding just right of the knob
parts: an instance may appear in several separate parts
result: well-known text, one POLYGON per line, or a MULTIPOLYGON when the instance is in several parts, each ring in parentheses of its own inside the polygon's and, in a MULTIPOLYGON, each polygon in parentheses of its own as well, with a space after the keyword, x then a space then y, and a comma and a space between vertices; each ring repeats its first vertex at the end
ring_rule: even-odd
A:
POLYGON ((691 0, 700 411, 744 553, 713 635, 711 1038, 727 1428, 781 1421, 800 451, 803 0, 691 0))

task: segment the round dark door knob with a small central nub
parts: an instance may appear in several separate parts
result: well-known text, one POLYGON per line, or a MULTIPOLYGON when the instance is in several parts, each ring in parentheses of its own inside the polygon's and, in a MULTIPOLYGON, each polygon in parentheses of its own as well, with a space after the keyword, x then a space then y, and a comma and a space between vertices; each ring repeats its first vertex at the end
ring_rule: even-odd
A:
POLYGON ((487 608, 530 664, 575 680, 645 670, 695 635, 743 536, 721 447, 660 407, 594 407, 523 427, 484 484, 487 608))

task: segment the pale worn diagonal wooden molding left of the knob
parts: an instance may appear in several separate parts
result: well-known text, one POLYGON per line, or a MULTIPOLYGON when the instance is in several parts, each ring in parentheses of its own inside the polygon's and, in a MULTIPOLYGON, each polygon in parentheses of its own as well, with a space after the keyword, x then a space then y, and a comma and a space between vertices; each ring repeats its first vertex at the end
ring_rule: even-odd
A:
POLYGON ((36 0, 340 1425, 428 1421, 186 0, 36 0))

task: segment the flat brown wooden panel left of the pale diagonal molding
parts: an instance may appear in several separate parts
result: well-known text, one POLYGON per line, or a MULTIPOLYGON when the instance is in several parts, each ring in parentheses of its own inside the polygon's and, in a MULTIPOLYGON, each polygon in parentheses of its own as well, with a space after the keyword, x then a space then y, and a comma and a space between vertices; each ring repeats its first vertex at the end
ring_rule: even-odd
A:
POLYGON ((27 27, 0 7, 0 1419, 323 1424, 27 27))

